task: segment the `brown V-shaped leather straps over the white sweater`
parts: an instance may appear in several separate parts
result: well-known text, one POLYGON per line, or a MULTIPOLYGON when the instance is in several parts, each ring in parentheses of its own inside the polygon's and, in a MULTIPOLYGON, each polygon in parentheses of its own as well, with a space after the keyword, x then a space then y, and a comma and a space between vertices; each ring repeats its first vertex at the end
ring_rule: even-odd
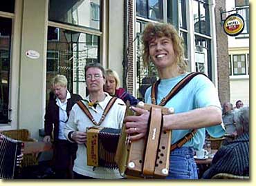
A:
POLYGON ((109 103, 107 103, 107 106, 106 108, 104 109, 104 112, 100 118, 100 121, 99 123, 97 123, 95 121, 95 118, 93 118, 93 116, 91 115, 91 112, 89 111, 89 109, 86 107, 86 105, 84 105, 84 103, 82 103, 82 101, 77 101, 77 105, 81 108, 81 110, 84 112, 84 114, 86 114, 86 116, 89 117, 89 119, 91 120, 91 122, 94 124, 94 125, 97 125, 99 126, 102 121, 104 121, 104 118, 106 117, 107 113, 109 112, 109 110, 111 109, 113 103, 115 103, 116 99, 118 99, 117 97, 112 97, 109 101, 109 103))

